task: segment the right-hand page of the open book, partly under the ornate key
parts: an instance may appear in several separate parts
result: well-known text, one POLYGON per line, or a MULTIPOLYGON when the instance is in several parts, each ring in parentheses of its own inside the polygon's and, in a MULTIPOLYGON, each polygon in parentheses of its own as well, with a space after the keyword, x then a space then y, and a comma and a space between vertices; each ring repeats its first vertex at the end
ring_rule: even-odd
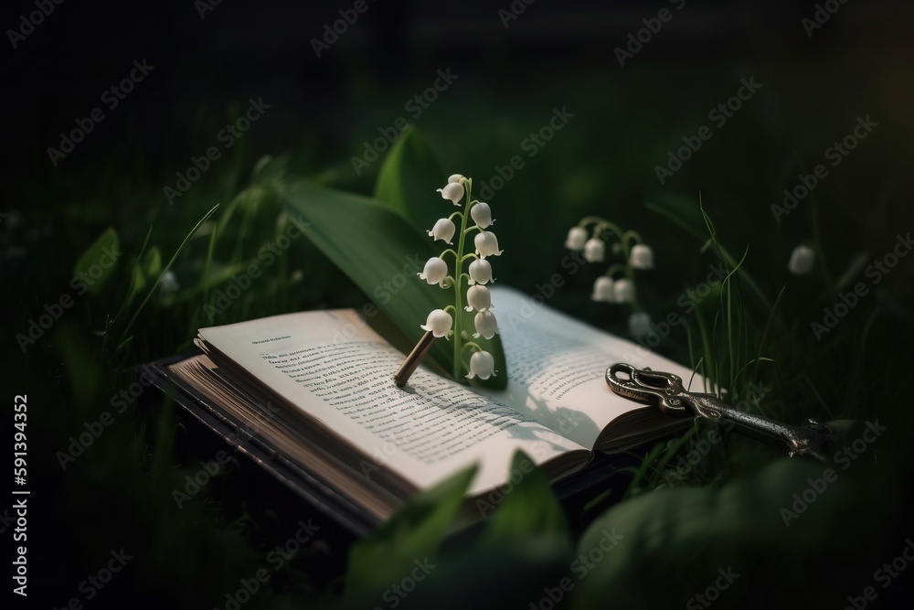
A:
POLYGON ((611 364, 627 362, 675 373, 687 383, 690 369, 511 288, 493 287, 492 304, 505 347, 508 387, 487 394, 591 449, 603 429, 622 416, 632 419, 630 433, 639 421, 648 422, 645 431, 681 424, 665 416, 649 422, 659 410, 617 395, 605 375, 611 364))

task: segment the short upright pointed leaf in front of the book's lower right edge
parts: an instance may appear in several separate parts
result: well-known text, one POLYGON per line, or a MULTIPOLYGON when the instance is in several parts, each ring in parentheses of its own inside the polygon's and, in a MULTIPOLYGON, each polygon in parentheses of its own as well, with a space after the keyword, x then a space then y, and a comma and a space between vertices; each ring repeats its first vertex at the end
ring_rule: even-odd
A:
POLYGON ((487 510, 494 508, 490 500, 505 498, 486 519, 484 540, 516 543, 531 536, 555 536, 567 540, 568 522, 558 498, 549 487, 549 479, 523 451, 518 450, 514 455, 509 481, 504 489, 476 500, 476 507, 488 514, 487 510))

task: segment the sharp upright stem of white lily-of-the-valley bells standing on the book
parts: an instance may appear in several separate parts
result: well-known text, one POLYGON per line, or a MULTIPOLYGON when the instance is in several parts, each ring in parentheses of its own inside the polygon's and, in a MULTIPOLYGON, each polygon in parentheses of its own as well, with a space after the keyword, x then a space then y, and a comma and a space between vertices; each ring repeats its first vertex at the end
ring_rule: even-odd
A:
MULTIPOLYGON (((441 197, 449 199, 452 203, 460 207, 461 199, 466 194, 470 198, 470 188, 473 182, 469 178, 460 174, 454 174, 448 178, 448 184, 438 189, 441 197)), ((435 309, 429 314, 429 318, 424 325, 423 330, 430 331, 434 337, 454 337, 454 376, 457 376, 457 370, 460 367, 462 348, 469 346, 474 348, 473 356, 470 357, 470 372, 466 375, 467 379, 478 377, 487 380, 494 376, 494 358, 492 354, 480 348, 473 342, 463 344, 463 333, 460 330, 460 311, 462 307, 462 281, 467 279, 468 287, 466 289, 466 311, 476 311, 473 318, 473 324, 476 332, 473 338, 484 337, 491 339, 498 333, 498 325, 495 316, 492 313, 492 296, 485 284, 494 282, 492 277, 492 265, 486 260, 491 256, 498 256, 502 253, 498 249, 498 239, 495 234, 486 229, 492 225, 492 209, 483 201, 468 201, 467 209, 463 212, 456 211, 449 218, 439 219, 435 226, 429 231, 429 237, 433 240, 444 241, 453 245, 455 234, 458 237, 457 250, 445 250, 440 256, 430 258, 425 263, 425 268, 419 273, 419 277, 429 284, 438 284, 441 288, 454 289, 455 305, 449 305, 444 309, 435 309), (467 226, 467 213, 473 219, 473 225, 467 226), (454 218, 460 219, 461 227, 458 228, 454 223, 454 218), (477 231, 473 238, 474 253, 463 253, 464 239, 471 232, 477 231), (454 257, 454 274, 448 274, 448 264, 444 261, 444 256, 452 254, 454 257), (467 273, 462 272, 463 262, 473 259, 470 262, 467 273), (453 311, 454 316, 448 313, 448 309, 453 311), (454 320, 456 317, 456 323, 454 320), (454 327, 456 326, 456 327, 454 327), (452 327, 453 330, 452 330, 452 327)))

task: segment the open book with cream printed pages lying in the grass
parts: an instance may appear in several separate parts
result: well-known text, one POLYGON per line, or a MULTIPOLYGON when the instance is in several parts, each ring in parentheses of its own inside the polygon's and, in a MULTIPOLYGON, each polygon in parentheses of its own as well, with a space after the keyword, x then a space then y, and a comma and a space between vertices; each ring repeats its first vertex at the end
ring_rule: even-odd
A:
POLYGON ((351 309, 203 328, 204 354, 168 369, 377 519, 473 464, 471 496, 505 485, 518 449, 558 480, 594 451, 622 451, 684 425, 617 396, 604 375, 618 361, 685 380, 688 369, 513 289, 492 294, 504 391, 471 389, 425 365, 398 388, 392 376, 404 354, 351 309))

